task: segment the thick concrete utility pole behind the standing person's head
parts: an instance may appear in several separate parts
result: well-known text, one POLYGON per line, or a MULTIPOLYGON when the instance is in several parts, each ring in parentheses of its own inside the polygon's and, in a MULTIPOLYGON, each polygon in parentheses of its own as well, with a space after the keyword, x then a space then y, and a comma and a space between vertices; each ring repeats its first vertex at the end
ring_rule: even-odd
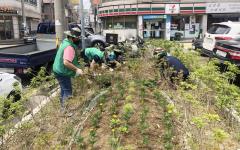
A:
POLYGON ((55 29, 56 29, 56 43, 57 46, 62 42, 64 38, 64 19, 65 9, 63 0, 54 0, 54 13, 55 13, 55 29))

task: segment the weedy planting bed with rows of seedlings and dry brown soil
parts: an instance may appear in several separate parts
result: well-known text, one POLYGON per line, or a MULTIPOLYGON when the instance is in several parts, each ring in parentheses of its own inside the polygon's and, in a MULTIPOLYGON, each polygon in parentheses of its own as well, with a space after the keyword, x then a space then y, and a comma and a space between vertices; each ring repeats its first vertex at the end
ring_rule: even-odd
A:
POLYGON ((71 117, 62 116, 58 97, 53 98, 32 121, 8 138, 2 148, 240 148, 239 128, 221 114, 225 106, 238 108, 239 88, 229 84, 225 76, 221 78, 221 72, 212 62, 199 65, 200 56, 196 52, 185 54, 177 43, 152 40, 144 49, 144 56, 127 58, 114 72, 99 71, 99 76, 75 78, 74 97, 67 102, 68 111, 73 113, 71 117), (163 78, 151 56, 155 47, 165 48, 181 59, 191 70, 190 79, 172 84, 163 78), (215 78, 205 77, 209 73, 215 78), (226 80, 221 82, 221 79, 226 80), (213 84, 226 87, 221 90, 213 84), (105 90, 96 106, 86 110, 91 100, 105 90))

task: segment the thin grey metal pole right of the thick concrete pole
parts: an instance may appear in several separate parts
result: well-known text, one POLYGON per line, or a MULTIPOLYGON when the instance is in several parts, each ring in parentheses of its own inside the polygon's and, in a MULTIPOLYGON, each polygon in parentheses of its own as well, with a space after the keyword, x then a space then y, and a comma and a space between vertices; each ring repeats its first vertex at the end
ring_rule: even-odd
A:
POLYGON ((84 12, 83 12, 83 0, 79 1, 79 16, 81 17, 81 37, 82 37, 82 50, 85 49, 85 28, 84 28, 84 12))

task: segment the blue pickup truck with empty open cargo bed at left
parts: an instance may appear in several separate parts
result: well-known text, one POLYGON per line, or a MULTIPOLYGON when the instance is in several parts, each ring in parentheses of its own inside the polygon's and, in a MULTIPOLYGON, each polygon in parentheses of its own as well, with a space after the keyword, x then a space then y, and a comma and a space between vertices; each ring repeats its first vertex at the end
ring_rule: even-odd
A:
POLYGON ((51 68, 56 55, 54 41, 37 41, 0 48, 0 68, 13 68, 15 74, 41 66, 51 68))

